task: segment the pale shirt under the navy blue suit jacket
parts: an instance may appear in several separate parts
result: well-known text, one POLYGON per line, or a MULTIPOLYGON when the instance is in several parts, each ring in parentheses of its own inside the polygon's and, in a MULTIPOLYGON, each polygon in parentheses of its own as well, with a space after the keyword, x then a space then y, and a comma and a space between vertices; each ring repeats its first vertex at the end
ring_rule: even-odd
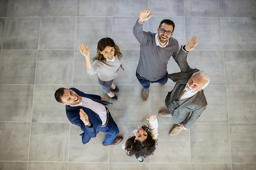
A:
POLYGON ((81 97, 81 98, 82 98, 82 101, 80 103, 78 103, 77 105, 73 105, 72 107, 82 106, 82 107, 89 108, 100 116, 102 125, 106 124, 106 121, 107 121, 106 107, 103 104, 101 104, 97 101, 93 101, 92 99, 89 99, 87 97, 81 97))

